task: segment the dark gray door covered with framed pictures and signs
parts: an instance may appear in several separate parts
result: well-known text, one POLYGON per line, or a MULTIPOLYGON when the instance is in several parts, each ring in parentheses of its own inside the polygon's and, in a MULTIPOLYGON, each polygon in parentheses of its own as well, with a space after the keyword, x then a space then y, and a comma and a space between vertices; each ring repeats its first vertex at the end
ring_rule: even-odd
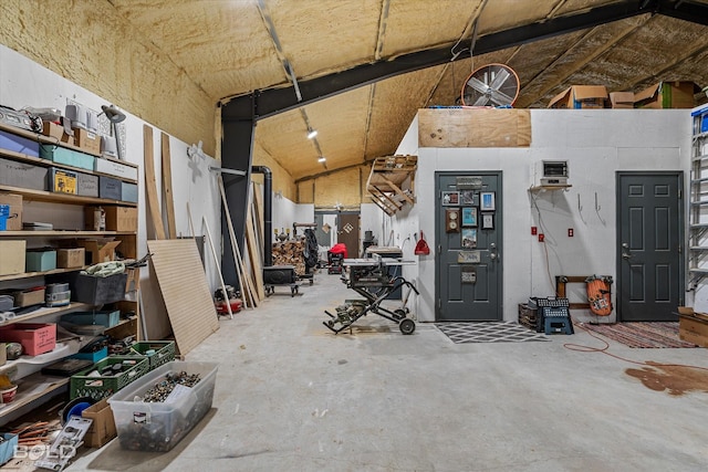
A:
POLYGON ((435 318, 500 321, 501 172, 436 172, 435 181, 435 318))

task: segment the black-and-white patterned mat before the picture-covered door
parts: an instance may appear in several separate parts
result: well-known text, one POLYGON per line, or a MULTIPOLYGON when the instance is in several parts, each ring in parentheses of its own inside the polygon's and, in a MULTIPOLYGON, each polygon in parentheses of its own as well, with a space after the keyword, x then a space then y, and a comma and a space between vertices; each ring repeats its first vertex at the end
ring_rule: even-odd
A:
POLYGON ((513 322, 436 323, 435 326, 455 344, 551 340, 543 333, 533 332, 513 322))

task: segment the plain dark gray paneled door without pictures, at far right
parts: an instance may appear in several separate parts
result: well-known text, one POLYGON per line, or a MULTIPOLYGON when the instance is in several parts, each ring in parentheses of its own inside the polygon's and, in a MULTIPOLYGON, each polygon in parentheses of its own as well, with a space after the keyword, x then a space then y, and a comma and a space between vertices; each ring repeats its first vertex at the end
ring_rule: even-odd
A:
POLYGON ((622 322, 677 321, 683 304, 681 172, 617 174, 617 305, 622 322))

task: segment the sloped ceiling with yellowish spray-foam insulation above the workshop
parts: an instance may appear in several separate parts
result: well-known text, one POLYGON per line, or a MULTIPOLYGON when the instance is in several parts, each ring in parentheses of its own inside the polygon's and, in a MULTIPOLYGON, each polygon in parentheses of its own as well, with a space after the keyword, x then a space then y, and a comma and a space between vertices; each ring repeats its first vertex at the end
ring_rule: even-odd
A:
POLYGON ((294 180, 394 153, 418 108, 456 105, 489 63, 519 75, 517 107, 571 84, 708 86, 707 0, 110 2, 215 104, 248 102, 257 147, 294 180))

